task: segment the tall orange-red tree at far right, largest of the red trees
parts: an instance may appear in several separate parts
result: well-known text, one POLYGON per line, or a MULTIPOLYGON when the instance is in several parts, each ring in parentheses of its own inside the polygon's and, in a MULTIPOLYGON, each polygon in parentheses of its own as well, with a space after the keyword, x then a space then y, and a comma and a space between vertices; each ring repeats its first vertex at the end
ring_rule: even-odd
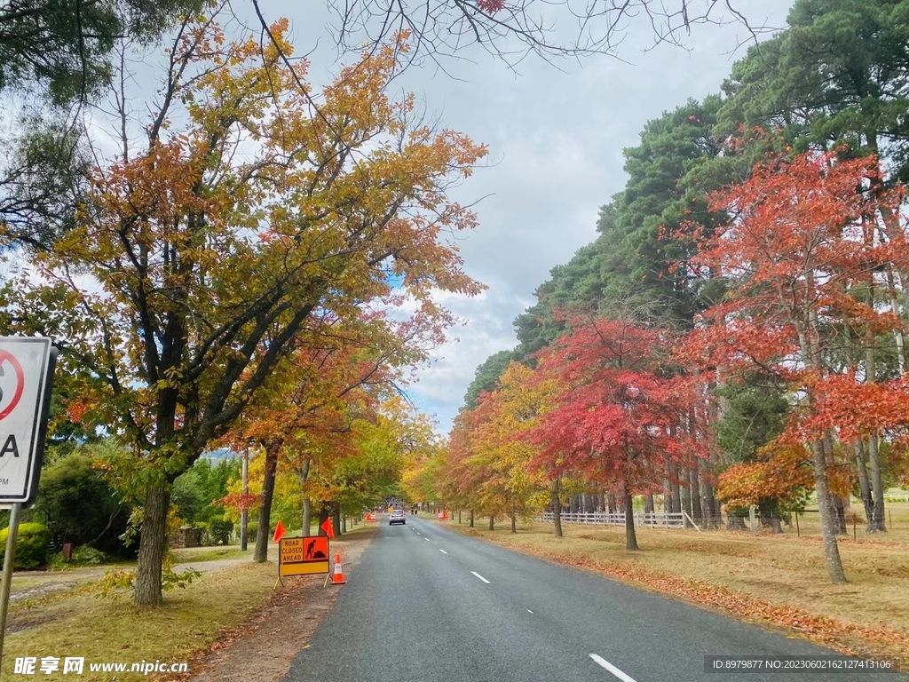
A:
MULTIPOLYGON (((841 471, 834 440, 851 445, 904 426, 904 386, 875 382, 868 363, 844 357, 844 339, 901 326, 894 313, 862 295, 881 264, 905 258, 905 234, 881 238, 875 221, 894 206, 873 192, 874 158, 833 153, 771 157, 751 178, 711 198, 727 211, 695 263, 727 279, 724 300, 708 309, 687 342, 706 371, 734 380, 755 368, 794 397, 779 445, 808 446, 820 508, 824 558, 832 582, 846 577, 836 543, 831 473, 841 471), (898 238, 897 238, 898 237, 898 238), (864 380, 859 380, 864 374, 864 380), (902 397, 901 397, 902 396, 902 397)), ((841 493, 844 491, 840 491, 841 493)))

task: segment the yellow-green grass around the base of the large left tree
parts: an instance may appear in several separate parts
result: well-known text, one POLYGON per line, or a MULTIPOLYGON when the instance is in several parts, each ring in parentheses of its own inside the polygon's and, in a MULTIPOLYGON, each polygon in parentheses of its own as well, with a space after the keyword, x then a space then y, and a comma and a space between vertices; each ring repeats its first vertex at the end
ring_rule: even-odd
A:
MULTIPOLYGON (((165 605, 139 608, 128 597, 95 597, 96 585, 75 592, 30 600, 11 610, 4 646, 4 669, 13 672, 16 657, 85 657, 80 679, 128 680, 141 673, 93 673, 90 663, 189 661, 210 647, 218 634, 236 627, 272 595, 274 564, 240 564, 203 574, 186 589, 165 595, 165 605), (15 630, 21 630, 15 632, 15 630)), ((39 670, 35 670, 40 674, 39 670)), ((57 671, 43 679, 68 679, 57 671)))

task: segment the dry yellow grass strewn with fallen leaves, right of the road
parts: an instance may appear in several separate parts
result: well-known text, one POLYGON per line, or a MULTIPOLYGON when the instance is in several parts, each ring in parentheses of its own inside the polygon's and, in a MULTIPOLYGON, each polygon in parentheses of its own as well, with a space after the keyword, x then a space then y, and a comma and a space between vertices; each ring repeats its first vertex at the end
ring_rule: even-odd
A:
POLYGON ((443 522, 528 554, 602 572, 764 625, 785 627, 848 653, 909 655, 909 505, 893 504, 897 530, 841 539, 849 583, 831 585, 820 537, 638 528, 640 552, 623 527, 507 525, 493 532, 443 522))

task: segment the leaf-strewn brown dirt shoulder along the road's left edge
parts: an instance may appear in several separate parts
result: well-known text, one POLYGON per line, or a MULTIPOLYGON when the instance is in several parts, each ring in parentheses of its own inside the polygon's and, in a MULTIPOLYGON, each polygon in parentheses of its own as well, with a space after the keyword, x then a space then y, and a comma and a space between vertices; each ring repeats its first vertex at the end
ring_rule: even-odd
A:
MULTIPOLYGON (((370 527, 332 541, 332 554, 341 553, 345 579, 355 578, 356 566, 376 530, 370 527)), ((322 587, 324 575, 284 582, 285 587, 278 587, 254 617, 225 633, 206 656, 190 662, 190 682, 277 682, 285 677, 344 587, 322 587)))

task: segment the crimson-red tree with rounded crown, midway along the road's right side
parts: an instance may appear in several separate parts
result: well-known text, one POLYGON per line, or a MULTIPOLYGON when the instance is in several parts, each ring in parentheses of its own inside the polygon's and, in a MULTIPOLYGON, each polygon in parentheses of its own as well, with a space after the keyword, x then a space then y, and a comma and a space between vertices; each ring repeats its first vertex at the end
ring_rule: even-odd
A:
POLYGON ((624 500, 625 547, 636 550, 634 494, 662 486, 670 461, 697 451, 677 430, 687 407, 674 395, 662 350, 668 339, 622 319, 574 317, 540 356, 563 390, 528 437, 536 464, 610 487, 624 500))

